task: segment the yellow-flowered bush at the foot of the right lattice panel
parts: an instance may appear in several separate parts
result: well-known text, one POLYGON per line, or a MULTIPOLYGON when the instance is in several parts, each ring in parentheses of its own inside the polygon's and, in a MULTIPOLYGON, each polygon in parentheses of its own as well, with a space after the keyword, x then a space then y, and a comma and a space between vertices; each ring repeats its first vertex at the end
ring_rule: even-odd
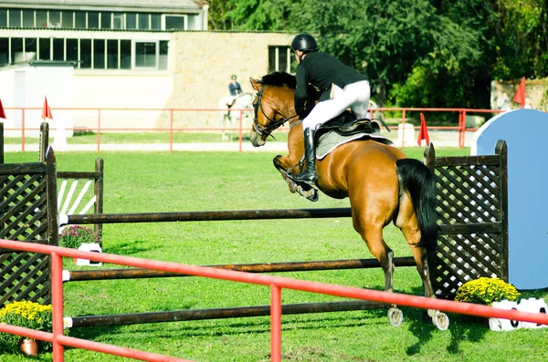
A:
POLYGON ((481 277, 460 285, 455 301, 492 305, 501 300, 516 301, 519 296, 520 293, 512 284, 501 279, 481 277))

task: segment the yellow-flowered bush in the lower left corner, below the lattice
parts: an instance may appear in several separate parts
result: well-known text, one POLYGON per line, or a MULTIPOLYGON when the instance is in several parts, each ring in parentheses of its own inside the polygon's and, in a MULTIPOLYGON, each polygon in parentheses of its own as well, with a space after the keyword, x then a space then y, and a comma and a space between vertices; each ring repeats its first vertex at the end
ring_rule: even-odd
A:
MULTIPOLYGON (((51 305, 34 302, 13 302, 0 310, 0 323, 12 326, 24 326, 44 332, 53 327, 51 305)), ((0 332, 0 353, 20 353, 19 345, 25 337, 0 332)), ((37 341, 39 351, 47 351, 51 344, 37 341)))

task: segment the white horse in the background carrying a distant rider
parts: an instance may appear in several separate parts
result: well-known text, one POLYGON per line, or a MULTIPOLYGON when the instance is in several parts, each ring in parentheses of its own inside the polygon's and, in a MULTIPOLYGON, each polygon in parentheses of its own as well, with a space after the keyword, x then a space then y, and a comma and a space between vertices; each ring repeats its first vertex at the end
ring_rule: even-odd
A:
POLYGON ((236 97, 226 96, 219 101, 219 109, 223 115, 223 140, 228 140, 228 130, 239 125, 242 112, 242 129, 247 129, 246 119, 253 117, 253 94, 242 93, 236 97))

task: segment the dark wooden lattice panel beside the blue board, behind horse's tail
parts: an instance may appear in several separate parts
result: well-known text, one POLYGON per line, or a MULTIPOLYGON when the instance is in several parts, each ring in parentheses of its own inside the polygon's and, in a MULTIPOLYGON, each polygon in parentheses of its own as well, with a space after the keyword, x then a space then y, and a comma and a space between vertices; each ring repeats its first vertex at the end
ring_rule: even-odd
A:
POLYGON ((425 151, 437 183, 440 237, 428 264, 438 297, 480 276, 508 281, 508 168, 506 143, 491 156, 435 157, 425 151))

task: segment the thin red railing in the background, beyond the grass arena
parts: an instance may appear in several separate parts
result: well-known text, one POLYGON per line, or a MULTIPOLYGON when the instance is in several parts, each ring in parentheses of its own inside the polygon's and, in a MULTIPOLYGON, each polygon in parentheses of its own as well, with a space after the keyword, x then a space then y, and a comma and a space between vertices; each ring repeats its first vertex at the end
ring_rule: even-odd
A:
MULTIPOLYGON (((32 110, 32 111, 38 111, 39 108, 5 108, 6 110, 14 110, 15 113, 18 111, 21 111, 21 127, 16 128, 5 128, 5 130, 16 130, 21 132, 21 151, 25 151, 25 145, 26 145, 26 131, 29 130, 38 130, 38 128, 32 128, 32 127, 26 127, 26 111, 32 110)), ((234 131, 238 133, 238 150, 242 151, 242 143, 243 143, 243 135, 245 132, 248 132, 248 129, 243 129, 243 118, 245 113, 251 113, 253 112, 252 109, 231 109, 232 112, 236 112, 238 114, 238 124, 237 127, 232 128, 225 128, 225 127, 211 127, 211 128, 200 128, 200 127, 174 127, 174 112, 216 112, 220 113, 226 109, 130 109, 130 108, 121 108, 121 109, 115 109, 115 108, 56 108, 53 109, 55 113, 56 110, 73 110, 73 111, 87 111, 87 112, 95 112, 96 116, 94 116, 96 120, 95 127, 86 127, 85 129, 82 128, 67 128, 68 130, 87 130, 87 131, 93 131, 97 133, 97 152, 100 152, 100 144, 101 144, 101 133, 103 132, 110 132, 110 131, 163 131, 163 132, 169 132, 169 151, 173 152, 174 150, 174 132, 175 131, 234 131), (140 111, 140 112, 167 112, 169 114, 169 127, 159 127, 159 128, 112 128, 112 127, 104 127, 102 125, 102 113, 106 111, 121 111, 121 112, 130 112, 130 111, 140 111)), ((436 130, 436 129, 445 129, 445 130, 457 130, 458 131, 458 140, 456 140, 456 145, 458 145, 459 148, 464 148, 465 145, 465 134, 466 132, 473 132, 477 129, 475 128, 467 128, 466 126, 466 116, 469 113, 501 113, 504 112, 504 110, 501 109, 427 109, 427 108, 378 108, 378 109, 370 109, 369 114, 370 118, 373 118, 374 113, 376 112, 401 112, 402 113, 402 124, 406 124, 406 115, 409 112, 454 112, 458 114, 458 125, 457 126, 444 126, 444 127, 428 127, 428 130, 436 130)), ((287 128, 285 128, 287 130, 287 128)), ((397 129, 397 127, 390 127, 390 129, 397 129)), ((415 127, 415 129, 418 129, 418 127, 415 127)), ((54 129, 52 129, 53 131, 54 129)), ((398 144, 397 146, 400 146, 402 148, 405 147, 404 145, 404 138, 402 138, 401 145, 398 144)))

